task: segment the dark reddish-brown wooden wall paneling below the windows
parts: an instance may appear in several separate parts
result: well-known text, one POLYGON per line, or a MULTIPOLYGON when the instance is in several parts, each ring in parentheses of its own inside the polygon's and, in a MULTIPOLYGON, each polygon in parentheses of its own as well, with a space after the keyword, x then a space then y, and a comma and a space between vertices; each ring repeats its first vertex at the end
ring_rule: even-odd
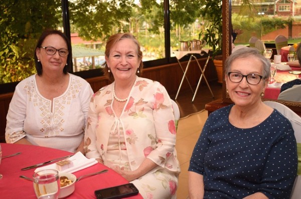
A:
MULTIPOLYGON (((203 66, 205 64, 206 58, 200 58, 198 60, 200 65, 203 66)), ((182 66, 184 67, 184 70, 187 66, 187 63, 188 61, 181 62, 182 66)), ((198 68, 196 61, 191 61, 191 65, 189 66, 189 70, 187 72, 187 77, 189 78, 193 88, 196 87, 200 75, 201 71, 198 68)), ((217 79, 215 67, 213 65, 212 60, 210 60, 208 63, 208 66, 205 70, 205 75, 209 82, 217 79)), ((178 91, 183 72, 179 66, 179 63, 177 62, 157 67, 145 68, 143 69, 141 76, 159 81, 162 85, 166 87, 169 94, 175 94, 178 91)), ((91 84, 91 87, 94 92, 110 83, 110 81, 105 76, 88 78, 86 80, 91 84)), ((202 84, 205 84, 204 79, 202 79, 202 84)), ((181 90, 184 89, 189 89, 189 85, 186 80, 184 80, 181 90)), ((179 93, 180 95, 181 90, 179 93)), ((0 94, 0 142, 5 142, 6 116, 13 94, 13 92, 0 94)))

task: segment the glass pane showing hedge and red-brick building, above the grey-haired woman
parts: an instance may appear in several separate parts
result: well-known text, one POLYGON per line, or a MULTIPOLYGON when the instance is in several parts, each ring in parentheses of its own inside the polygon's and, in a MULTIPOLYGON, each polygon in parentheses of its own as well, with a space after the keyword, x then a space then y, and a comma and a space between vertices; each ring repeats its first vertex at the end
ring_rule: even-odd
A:
POLYGON ((276 35, 282 34, 288 43, 299 42, 300 10, 290 0, 232 0, 232 25, 243 33, 237 35, 234 44, 249 44, 251 36, 272 46, 276 35), (251 6, 246 4, 249 2, 251 6), (293 5, 294 4, 294 5, 293 5))

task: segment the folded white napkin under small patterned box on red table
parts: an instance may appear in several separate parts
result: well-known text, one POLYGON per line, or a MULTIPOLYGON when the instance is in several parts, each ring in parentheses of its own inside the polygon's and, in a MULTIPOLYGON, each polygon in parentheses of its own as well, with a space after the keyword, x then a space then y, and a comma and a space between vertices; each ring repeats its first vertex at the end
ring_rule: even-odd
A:
MULTIPOLYGON (((87 168, 87 167, 92 166, 97 163, 95 158, 88 159, 81 152, 75 153, 73 156, 69 157, 68 160, 72 161, 73 166, 65 169, 64 172, 73 173, 75 171, 87 168)), ((43 169, 56 169, 56 163, 36 168, 35 172, 43 170, 43 169)))

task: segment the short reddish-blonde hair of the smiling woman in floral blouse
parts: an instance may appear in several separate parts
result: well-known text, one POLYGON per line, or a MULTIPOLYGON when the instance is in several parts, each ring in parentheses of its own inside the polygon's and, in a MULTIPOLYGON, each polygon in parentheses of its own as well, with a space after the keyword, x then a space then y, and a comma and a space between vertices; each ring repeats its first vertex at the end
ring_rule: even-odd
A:
MULTIPOLYGON (((104 51, 104 54, 105 56, 108 58, 109 55, 110 55, 110 50, 111 48, 119 41, 119 40, 122 40, 124 38, 129 38, 131 39, 136 45, 137 45, 137 56, 138 56, 138 60, 140 60, 140 65, 139 65, 139 71, 140 73, 136 73, 137 76, 139 76, 141 74, 141 70, 142 70, 142 67, 143 67, 143 62, 142 62, 142 51, 140 49, 140 44, 138 42, 138 40, 135 38, 134 35, 132 35, 131 33, 129 32, 125 32, 125 33, 117 33, 117 34, 114 34, 114 35, 111 35, 109 37, 109 39, 107 40, 106 42, 106 45, 105 45, 105 51, 104 51)), ((111 81, 114 81, 114 76, 112 74, 112 72, 108 72, 109 68, 108 68, 108 65, 107 63, 105 62, 103 65, 103 72, 104 72, 104 75, 106 75, 108 77, 109 80, 111 81)))

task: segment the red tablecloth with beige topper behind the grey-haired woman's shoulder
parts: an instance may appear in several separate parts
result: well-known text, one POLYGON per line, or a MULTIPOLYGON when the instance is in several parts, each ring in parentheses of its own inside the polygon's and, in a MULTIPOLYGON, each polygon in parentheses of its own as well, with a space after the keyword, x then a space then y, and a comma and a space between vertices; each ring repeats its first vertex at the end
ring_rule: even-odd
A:
MULTIPOLYGON (((291 67, 292 70, 301 70, 301 67, 291 67)), ((296 78, 300 78, 301 75, 290 74, 289 70, 277 70, 275 80, 276 82, 287 82, 296 78)), ((264 98, 266 99, 278 99, 280 94, 280 87, 266 87, 264 91, 264 98)))

